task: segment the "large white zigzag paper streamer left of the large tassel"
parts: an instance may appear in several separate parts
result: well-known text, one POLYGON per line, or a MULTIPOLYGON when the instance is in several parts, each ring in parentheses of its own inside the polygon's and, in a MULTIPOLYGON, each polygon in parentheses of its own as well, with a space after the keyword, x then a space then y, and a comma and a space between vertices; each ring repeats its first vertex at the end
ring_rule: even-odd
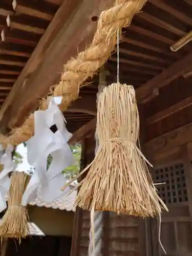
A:
POLYGON ((41 200, 51 202, 61 194, 68 193, 69 188, 61 192, 66 179, 61 173, 63 169, 74 163, 73 154, 68 145, 72 137, 65 126, 65 118, 58 108, 61 97, 50 100, 46 111, 35 111, 34 136, 27 141, 28 162, 35 167, 35 172, 23 196, 23 204, 37 198, 37 188, 41 188, 41 200), (57 131, 53 133, 50 127, 56 125, 57 131), (47 158, 52 156, 52 162, 47 170, 47 158))

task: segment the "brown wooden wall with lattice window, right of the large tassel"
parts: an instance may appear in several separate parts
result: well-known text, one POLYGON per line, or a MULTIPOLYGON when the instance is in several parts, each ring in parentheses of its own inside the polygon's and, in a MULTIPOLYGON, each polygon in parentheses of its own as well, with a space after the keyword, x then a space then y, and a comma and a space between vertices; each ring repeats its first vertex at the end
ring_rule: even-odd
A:
MULTIPOLYGON (((169 209, 162 213, 161 224, 161 242, 168 256, 192 255, 191 82, 191 77, 179 77, 144 106, 144 150, 154 165, 154 183, 165 182, 157 188, 169 209)), ((157 255, 164 255, 158 230, 154 232, 157 255)))

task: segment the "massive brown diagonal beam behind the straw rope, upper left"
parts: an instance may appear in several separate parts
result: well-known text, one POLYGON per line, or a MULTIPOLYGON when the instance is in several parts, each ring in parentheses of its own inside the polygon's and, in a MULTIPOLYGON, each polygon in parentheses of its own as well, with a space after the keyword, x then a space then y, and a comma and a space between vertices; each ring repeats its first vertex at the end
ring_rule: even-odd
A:
MULTIPOLYGON (((74 3, 73 1, 67 2, 74 3)), ((51 28, 51 30, 54 32, 53 35, 57 35, 55 40, 53 40, 52 37, 50 45, 48 45, 48 42, 46 42, 47 49, 49 47, 49 50, 47 51, 40 47, 40 52, 38 50, 38 55, 35 57, 35 59, 39 58, 39 55, 42 56, 42 58, 40 58, 40 61, 38 62, 31 63, 31 66, 33 67, 33 69, 31 67, 31 70, 34 71, 37 66, 38 69, 31 74, 26 83, 25 89, 22 88, 22 83, 26 77, 26 74, 29 74, 29 70, 26 70, 25 73, 22 72, 23 74, 21 74, 21 76, 23 78, 18 78, 19 83, 16 82, 17 86, 14 86, 14 94, 12 95, 12 99, 14 98, 14 101, 9 101, 9 104, 6 102, 2 108, 5 112, 5 109, 8 105, 10 105, 11 102, 10 123, 12 123, 13 120, 13 122, 15 122, 17 117, 20 116, 21 112, 22 116, 26 117, 26 115, 29 114, 29 112, 27 113, 27 110, 33 111, 36 108, 39 97, 45 96, 49 92, 49 88, 55 83, 55 80, 60 77, 63 69, 63 63, 66 63, 71 57, 75 56, 77 54, 77 50, 84 50, 86 45, 91 42, 97 25, 95 22, 92 22, 91 17, 97 16, 101 11, 110 8, 113 3, 113 0, 100 0, 99 2, 98 0, 82 0, 78 6, 73 5, 73 8, 71 7, 71 18, 64 26, 63 23, 60 24, 60 21, 58 22, 58 20, 55 20, 56 26, 59 24, 60 27, 59 33, 57 30, 57 33, 55 34, 54 28, 56 26, 51 28), (74 10, 74 8, 76 9, 74 10), (72 10, 74 10, 74 12, 72 10), (42 59, 43 61, 41 61, 42 59), (32 91, 33 97, 31 97, 32 91), (22 98, 20 95, 22 95, 22 98), (30 95, 30 100, 27 100, 27 95, 30 95), (20 105, 21 102, 22 105, 20 105), (16 115, 14 113, 15 108, 17 109, 16 115)), ((65 2, 63 2, 62 8, 64 8, 64 6, 65 9, 63 9, 63 11, 67 13, 65 2)), ((60 13, 57 18, 60 19, 62 16, 65 16, 63 12, 60 13)), ((1 111, 0 119, 2 116, 1 111)))

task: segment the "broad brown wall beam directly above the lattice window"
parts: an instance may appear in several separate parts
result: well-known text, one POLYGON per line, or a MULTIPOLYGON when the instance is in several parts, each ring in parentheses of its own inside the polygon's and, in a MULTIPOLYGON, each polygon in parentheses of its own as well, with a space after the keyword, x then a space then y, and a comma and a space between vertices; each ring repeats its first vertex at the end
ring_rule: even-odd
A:
POLYGON ((192 123, 182 126, 176 130, 163 134, 145 143, 146 152, 155 155, 158 152, 166 152, 171 148, 192 142, 192 123))

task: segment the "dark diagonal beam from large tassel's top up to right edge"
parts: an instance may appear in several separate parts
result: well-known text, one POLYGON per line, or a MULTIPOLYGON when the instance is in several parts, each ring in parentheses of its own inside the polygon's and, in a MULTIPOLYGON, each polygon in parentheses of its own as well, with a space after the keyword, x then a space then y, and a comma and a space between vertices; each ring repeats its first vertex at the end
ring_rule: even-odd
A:
POLYGON ((186 69, 192 68, 192 52, 188 53, 181 60, 175 62, 172 66, 162 71, 159 75, 147 81, 141 87, 136 89, 136 97, 139 102, 146 102, 146 95, 152 93, 154 88, 162 88, 167 86, 171 81, 183 75, 186 69))

